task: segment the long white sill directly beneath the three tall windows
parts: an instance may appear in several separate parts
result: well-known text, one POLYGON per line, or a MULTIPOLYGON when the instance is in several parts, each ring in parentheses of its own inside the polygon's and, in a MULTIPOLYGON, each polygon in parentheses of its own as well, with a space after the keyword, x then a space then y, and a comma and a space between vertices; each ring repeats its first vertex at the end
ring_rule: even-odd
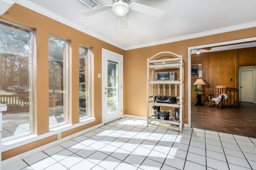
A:
POLYGON ((66 124, 66 125, 56 127, 56 128, 51 128, 49 130, 49 132, 44 133, 44 134, 40 134, 40 135, 29 134, 29 135, 26 135, 26 136, 23 136, 23 137, 20 137, 20 138, 15 138, 13 140, 4 141, 4 142, 2 142, 2 145, 1 145, 2 146, 2 152, 5 152, 5 151, 13 149, 13 148, 17 148, 17 147, 22 146, 24 144, 34 142, 36 140, 46 138, 48 136, 52 136, 52 135, 60 133, 60 132, 64 132, 66 130, 70 130, 72 128, 76 128, 76 127, 80 127, 82 125, 86 125, 88 123, 94 122, 95 120, 96 120, 96 118, 89 117, 87 119, 80 120, 79 123, 76 123, 74 125, 66 124))

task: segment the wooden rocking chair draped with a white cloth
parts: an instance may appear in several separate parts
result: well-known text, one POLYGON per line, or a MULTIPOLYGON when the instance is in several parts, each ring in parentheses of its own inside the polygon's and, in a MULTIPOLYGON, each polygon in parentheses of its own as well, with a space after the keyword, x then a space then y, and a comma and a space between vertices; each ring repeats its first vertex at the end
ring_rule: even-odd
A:
POLYGON ((220 108, 224 107, 223 99, 228 99, 228 95, 225 94, 226 86, 225 85, 215 85, 213 86, 213 94, 208 94, 207 104, 209 107, 215 105, 220 105, 220 108))

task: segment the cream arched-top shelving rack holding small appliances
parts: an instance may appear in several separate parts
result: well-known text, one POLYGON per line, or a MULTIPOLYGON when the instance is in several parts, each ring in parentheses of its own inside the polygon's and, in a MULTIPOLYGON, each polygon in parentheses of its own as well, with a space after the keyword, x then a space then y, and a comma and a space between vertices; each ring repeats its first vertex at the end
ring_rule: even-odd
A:
POLYGON ((147 126, 155 125, 182 132, 184 126, 184 62, 182 55, 169 51, 157 53, 148 59, 147 68, 147 126), (166 59, 158 59, 159 57, 166 59), (154 60, 154 58, 157 59, 154 60), (156 80, 156 73, 164 71, 174 71, 177 76, 174 80, 156 80), (155 102, 155 96, 176 97, 177 103, 155 102), (157 115, 150 113, 152 106, 160 106, 165 110, 170 109, 169 119, 158 119, 157 115), (174 109, 179 109, 179 119, 172 116, 174 109))

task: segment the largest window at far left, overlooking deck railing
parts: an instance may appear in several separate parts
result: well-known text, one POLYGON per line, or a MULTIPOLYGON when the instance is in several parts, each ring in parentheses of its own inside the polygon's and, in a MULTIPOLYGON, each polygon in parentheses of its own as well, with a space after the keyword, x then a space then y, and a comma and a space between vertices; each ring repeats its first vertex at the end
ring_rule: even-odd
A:
POLYGON ((2 141, 32 133, 32 31, 0 21, 2 141))

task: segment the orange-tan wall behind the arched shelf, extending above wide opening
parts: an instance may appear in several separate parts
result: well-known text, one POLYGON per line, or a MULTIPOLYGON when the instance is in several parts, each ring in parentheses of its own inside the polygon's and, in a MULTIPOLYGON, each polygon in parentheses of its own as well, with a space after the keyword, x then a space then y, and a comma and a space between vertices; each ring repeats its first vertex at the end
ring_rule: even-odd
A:
POLYGON ((256 27, 125 51, 124 87, 126 109, 124 113, 146 117, 147 58, 161 51, 171 51, 182 55, 184 59, 184 123, 188 123, 188 47, 252 37, 256 37, 256 27))

